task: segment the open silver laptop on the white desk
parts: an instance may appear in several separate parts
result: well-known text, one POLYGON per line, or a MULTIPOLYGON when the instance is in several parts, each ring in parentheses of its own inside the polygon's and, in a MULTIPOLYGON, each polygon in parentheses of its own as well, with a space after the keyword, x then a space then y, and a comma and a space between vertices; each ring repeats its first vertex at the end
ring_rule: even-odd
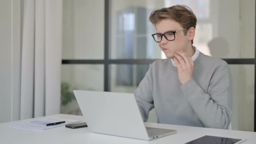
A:
POLYGON ((91 132, 148 141, 177 132, 146 128, 131 93, 74 90, 74 94, 91 132))

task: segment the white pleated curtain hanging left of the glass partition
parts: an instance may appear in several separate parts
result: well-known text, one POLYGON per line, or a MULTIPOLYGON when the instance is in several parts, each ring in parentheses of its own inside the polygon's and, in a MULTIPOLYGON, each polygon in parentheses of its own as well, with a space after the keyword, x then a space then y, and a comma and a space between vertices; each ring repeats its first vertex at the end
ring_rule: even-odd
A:
POLYGON ((59 114, 62 0, 22 0, 20 119, 59 114))

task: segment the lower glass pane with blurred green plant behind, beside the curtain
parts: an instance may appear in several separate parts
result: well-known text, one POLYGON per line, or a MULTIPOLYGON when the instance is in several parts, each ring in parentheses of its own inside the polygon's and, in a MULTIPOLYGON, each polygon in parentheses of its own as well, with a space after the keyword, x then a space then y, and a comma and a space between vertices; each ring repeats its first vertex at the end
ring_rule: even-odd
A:
POLYGON ((82 115, 73 90, 104 91, 104 65, 62 65, 61 113, 82 115))

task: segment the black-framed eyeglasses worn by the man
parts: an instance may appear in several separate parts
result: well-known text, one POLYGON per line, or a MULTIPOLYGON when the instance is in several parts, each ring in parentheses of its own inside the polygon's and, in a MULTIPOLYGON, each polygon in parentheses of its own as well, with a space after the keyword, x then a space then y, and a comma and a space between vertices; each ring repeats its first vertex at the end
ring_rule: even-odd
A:
POLYGON ((183 30, 186 30, 186 29, 180 29, 180 30, 176 30, 176 31, 172 31, 172 32, 166 32, 164 34, 155 33, 155 34, 152 34, 151 36, 153 36, 154 41, 156 41, 157 43, 160 43, 162 41, 163 36, 165 37, 165 39, 167 39, 169 41, 173 41, 175 39, 175 33, 181 32, 183 30))

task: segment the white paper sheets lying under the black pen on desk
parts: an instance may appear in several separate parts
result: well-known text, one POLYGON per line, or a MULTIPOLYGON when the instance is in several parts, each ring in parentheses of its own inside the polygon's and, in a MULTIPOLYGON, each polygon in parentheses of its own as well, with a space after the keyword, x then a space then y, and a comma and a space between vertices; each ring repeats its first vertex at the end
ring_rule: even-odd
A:
POLYGON ((62 125, 66 124, 72 124, 77 123, 79 121, 77 120, 69 120, 69 119, 53 119, 53 118, 44 118, 37 121, 29 121, 29 122, 22 122, 18 124, 10 125, 11 128, 20 128, 20 129, 29 129, 29 130, 35 130, 35 131, 42 131, 49 128, 56 128, 62 125), (62 124, 56 124, 51 126, 46 126, 46 124, 55 123, 59 121, 65 121, 65 123, 62 124))

